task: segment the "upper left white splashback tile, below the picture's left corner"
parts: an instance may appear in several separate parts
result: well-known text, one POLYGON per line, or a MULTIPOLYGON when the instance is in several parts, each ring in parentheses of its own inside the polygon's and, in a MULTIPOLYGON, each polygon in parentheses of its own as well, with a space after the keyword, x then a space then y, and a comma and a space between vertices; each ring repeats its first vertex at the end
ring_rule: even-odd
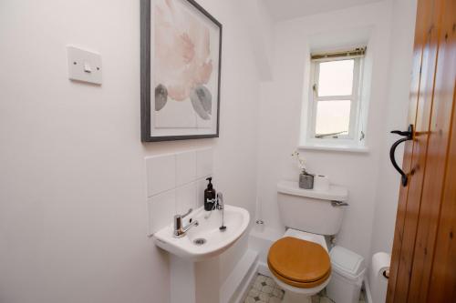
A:
POLYGON ((146 157, 148 197, 176 187, 175 155, 146 157))

